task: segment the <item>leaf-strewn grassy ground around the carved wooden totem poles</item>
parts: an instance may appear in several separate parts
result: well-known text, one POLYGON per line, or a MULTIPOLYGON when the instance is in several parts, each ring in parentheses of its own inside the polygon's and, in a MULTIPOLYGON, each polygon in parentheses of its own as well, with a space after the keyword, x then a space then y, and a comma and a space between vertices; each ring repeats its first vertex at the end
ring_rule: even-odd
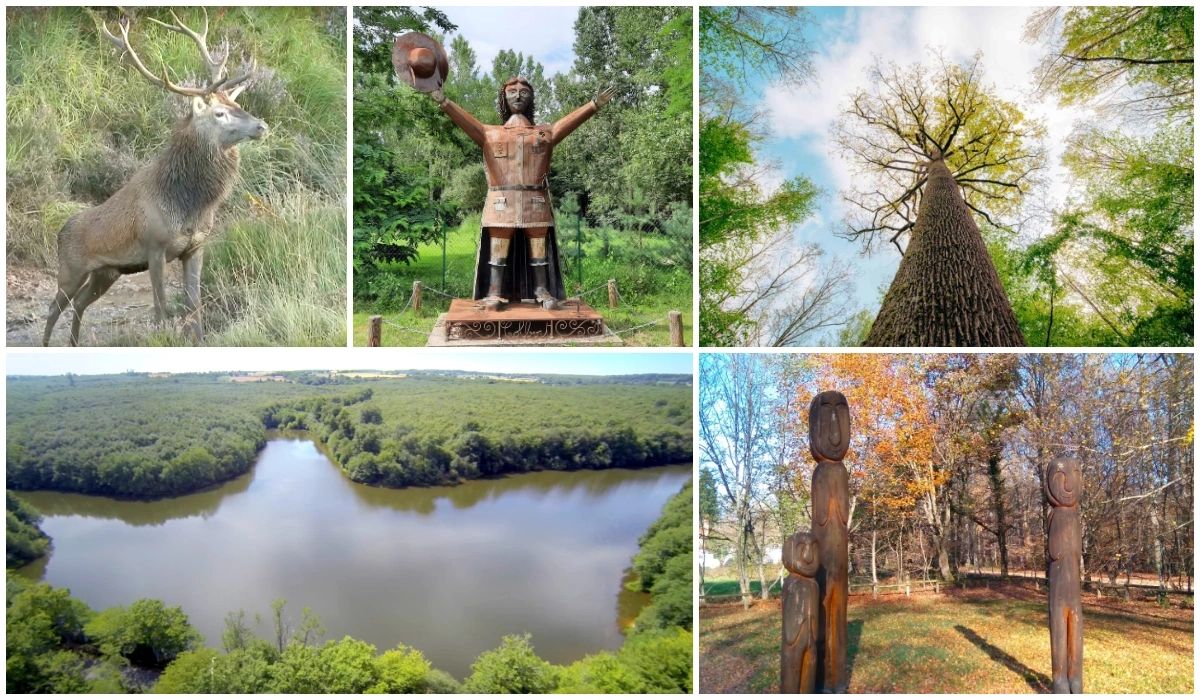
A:
MULTIPOLYGON (((700 615, 701 693, 779 690, 779 600, 703 606, 700 615)), ((847 617, 851 693, 1050 692, 1044 590, 857 596, 847 617)), ((1193 629, 1190 606, 1085 596, 1084 689, 1190 694, 1193 629)))

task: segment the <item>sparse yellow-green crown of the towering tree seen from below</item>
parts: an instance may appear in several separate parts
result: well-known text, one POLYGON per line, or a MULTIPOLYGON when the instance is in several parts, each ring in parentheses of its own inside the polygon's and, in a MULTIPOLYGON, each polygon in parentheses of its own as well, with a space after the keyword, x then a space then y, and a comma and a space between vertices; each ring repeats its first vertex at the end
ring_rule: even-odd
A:
POLYGON ((840 235, 902 253, 935 154, 983 220, 1000 225, 1016 213, 1044 167, 1044 128, 983 83, 980 54, 962 65, 876 61, 870 84, 851 96, 833 134, 863 183, 842 195, 857 215, 840 235))

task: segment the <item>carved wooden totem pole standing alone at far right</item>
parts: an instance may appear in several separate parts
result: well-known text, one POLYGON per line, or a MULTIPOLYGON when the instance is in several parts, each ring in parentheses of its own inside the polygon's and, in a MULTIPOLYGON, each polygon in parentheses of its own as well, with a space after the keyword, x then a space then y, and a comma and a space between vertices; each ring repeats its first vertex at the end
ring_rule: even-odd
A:
POLYGON ((1050 499, 1050 668, 1055 693, 1084 692, 1084 610, 1079 602, 1082 548, 1079 499, 1084 477, 1078 460, 1057 459, 1046 469, 1050 499))

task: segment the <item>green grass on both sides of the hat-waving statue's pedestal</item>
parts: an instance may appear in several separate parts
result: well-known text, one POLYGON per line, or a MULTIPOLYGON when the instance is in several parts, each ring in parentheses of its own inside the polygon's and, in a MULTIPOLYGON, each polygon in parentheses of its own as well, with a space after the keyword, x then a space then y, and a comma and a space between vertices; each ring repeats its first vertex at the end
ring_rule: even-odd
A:
MULTIPOLYGON (((575 257, 575 243, 571 238, 559 237, 559 253, 566 265, 565 283, 570 293, 577 287, 577 273, 571 267, 575 257)), ((479 240, 479 219, 469 217, 446 238, 445 287, 442 286, 442 244, 424 244, 419 246, 419 257, 410 264, 380 263, 372 275, 376 298, 371 301, 355 300, 354 305, 354 345, 367 343, 367 323, 371 316, 384 317, 384 346, 424 346, 433 330, 437 315, 445 311, 449 299, 437 294, 445 292, 451 297, 469 299, 474 286, 475 252, 479 240), (413 313, 407 306, 412 295, 413 281, 420 280, 425 287, 421 312, 413 313), (401 313, 403 311, 403 313, 401 313)), ((683 337, 685 345, 691 345, 691 268, 679 269, 665 267, 652 269, 652 265, 628 265, 617 259, 602 257, 602 241, 595 240, 596 234, 589 234, 584 245, 583 291, 590 291, 584 300, 592 304, 605 318, 605 324, 614 333, 622 334, 626 346, 665 346, 670 342, 666 325, 668 311, 683 313, 683 337), (620 300, 616 309, 608 307, 605 285, 610 279, 617 280, 620 300), (626 286, 628 285, 628 286, 626 286), (601 287, 595 289, 595 287, 601 287), (632 333, 623 333, 644 323, 660 322, 632 333)), ((611 249, 632 245, 631 234, 610 234, 611 249)), ((361 291, 359 291, 361 297, 361 291)))

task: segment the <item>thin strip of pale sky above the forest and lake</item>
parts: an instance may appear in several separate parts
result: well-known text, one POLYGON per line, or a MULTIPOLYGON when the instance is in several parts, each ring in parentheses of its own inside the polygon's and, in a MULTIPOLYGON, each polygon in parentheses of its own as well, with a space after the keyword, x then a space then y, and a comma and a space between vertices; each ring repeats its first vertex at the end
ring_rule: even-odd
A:
POLYGON ((10 349, 6 375, 108 375, 283 370, 468 370, 540 375, 691 373, 688 352, 404 348, 128 348, 103 352, 10 349))

